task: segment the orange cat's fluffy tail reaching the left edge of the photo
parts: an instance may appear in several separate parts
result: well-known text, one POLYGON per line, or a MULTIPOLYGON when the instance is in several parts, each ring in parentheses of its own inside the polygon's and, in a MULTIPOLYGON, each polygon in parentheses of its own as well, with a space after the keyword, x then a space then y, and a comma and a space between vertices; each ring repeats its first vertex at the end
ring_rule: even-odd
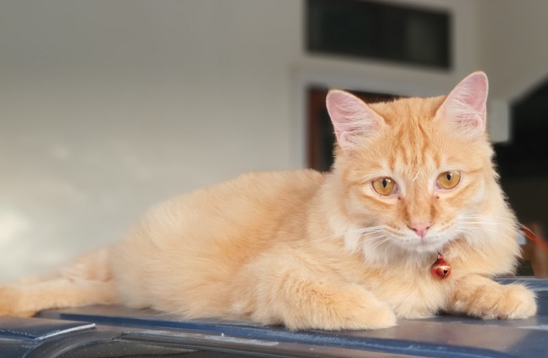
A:
POLYGON ((51 275, 0 286, 0 316, 34 316, 42 309, 117 303, 110 247, 78 258, 51 275))

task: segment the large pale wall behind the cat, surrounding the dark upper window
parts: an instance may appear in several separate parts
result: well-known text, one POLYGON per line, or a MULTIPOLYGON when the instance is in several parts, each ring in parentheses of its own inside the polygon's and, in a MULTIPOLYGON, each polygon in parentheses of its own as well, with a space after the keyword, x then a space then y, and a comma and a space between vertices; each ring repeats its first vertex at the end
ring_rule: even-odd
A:
POLYGON ((443 94, 479 68, 476 1, 399 2, 455 14, 452 71, 306 55, 302 1, 1 1, 0 279, 164 197, 303 167, 307 83, 443 94))

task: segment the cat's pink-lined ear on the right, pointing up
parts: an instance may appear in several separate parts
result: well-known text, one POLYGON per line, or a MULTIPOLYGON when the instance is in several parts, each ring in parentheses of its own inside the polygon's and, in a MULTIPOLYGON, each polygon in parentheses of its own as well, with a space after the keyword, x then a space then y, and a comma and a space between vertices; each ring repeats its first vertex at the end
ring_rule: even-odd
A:
POLYGON ((469 74, 449 93, 436 112, 461 133, 480 135, 486 128, 487 76, 477 71, 469 74))

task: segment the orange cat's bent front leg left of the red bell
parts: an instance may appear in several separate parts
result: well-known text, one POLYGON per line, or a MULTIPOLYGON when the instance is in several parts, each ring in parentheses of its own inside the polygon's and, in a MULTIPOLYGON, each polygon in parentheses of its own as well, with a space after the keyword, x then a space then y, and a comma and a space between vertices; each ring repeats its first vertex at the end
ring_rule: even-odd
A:
POLYGON ((316 273, 284 258, 263 259, 240 273, 233 312, 289 329, 379 329, 396 325, 387 303, 362 286, 316 273))

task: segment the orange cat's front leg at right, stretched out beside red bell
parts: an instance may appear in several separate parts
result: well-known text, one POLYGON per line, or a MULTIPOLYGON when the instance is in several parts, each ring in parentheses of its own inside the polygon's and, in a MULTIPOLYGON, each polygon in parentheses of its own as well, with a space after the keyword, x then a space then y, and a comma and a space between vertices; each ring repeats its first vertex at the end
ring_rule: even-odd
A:
POLYGON ((455 283, 447 311, 484 319, 527 318, 536 313, 536 300, 525 286, 468 275, 455 283))

